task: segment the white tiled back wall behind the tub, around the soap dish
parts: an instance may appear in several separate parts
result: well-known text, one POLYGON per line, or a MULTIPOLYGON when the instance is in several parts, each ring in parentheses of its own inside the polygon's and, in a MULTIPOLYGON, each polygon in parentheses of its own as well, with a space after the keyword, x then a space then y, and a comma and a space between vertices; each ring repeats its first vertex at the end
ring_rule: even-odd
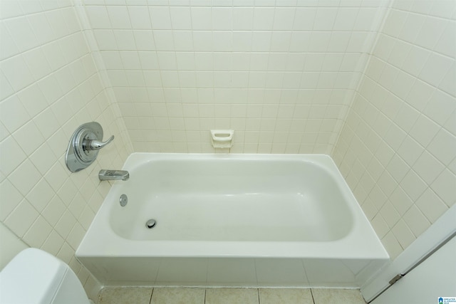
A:
POLYGON ((137 152, 330 153, 388 3, 83 0, 137 152))

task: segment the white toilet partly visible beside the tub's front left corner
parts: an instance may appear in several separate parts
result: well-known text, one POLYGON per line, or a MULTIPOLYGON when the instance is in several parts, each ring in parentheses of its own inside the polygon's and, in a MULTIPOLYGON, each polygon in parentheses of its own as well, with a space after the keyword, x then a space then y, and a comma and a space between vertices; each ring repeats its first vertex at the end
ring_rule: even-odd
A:
POLYGON ((81 281, 51 254, 27 248, 0 272, 0 304, 89 304, 81 281))

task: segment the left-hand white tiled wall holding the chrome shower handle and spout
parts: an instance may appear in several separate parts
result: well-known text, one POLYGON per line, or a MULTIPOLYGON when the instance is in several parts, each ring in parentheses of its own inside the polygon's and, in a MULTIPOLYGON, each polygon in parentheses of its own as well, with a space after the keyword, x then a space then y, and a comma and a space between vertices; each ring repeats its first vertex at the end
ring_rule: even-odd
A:
MULTIPOLYGON (((96 282, 74 253, 110 188, 98 170, 122 166, 133 150, 128 133, 71 1, 2 0, 0 14, 0 221, 68 263, 90 292, 96 282), (71 173, 70 137, 93 120, 116 138, 88 169, 71 173)), ((1 239, 0 248, 11 245, 1 239)))

